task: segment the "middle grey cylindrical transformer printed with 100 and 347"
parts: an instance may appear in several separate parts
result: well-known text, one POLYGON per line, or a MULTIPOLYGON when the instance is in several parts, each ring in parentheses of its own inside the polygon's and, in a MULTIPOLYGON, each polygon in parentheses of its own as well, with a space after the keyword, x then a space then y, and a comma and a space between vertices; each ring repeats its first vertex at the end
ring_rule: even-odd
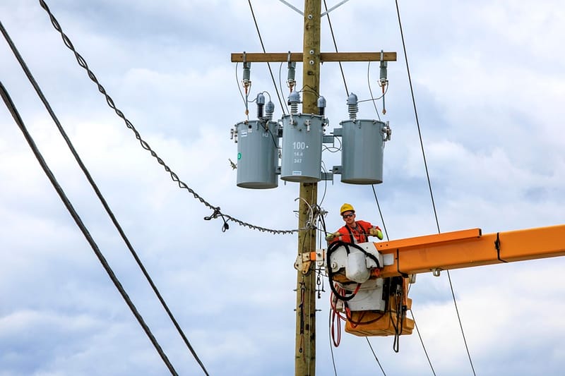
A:
POLYGON ((314 114, 283 116, 283 160, 280 178, 285 181, 321 181, 324 121, 314 114))

